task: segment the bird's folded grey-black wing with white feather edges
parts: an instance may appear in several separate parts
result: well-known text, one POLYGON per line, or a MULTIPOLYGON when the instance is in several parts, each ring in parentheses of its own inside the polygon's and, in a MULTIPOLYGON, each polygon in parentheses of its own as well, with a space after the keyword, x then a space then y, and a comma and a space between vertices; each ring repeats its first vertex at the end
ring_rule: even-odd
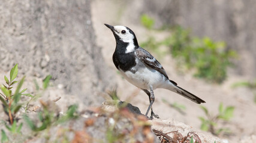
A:
POLYGON ((153 57, 153 55, 151 55, 145 49, 143 49, 141 47, 135 49, 135 55, 138 57, 138 59, 140 59, 140 61, 142 61, 144 64, 146 64, 146 66, 149 66, 152 69, 159 71, 160 73, 164 74, 164 76, 167 77, 167 79, 168 79, 167 73, 164 70, 164 68, 162 67, 162 65, 159 63, 159 61, 157 61, 153 57))

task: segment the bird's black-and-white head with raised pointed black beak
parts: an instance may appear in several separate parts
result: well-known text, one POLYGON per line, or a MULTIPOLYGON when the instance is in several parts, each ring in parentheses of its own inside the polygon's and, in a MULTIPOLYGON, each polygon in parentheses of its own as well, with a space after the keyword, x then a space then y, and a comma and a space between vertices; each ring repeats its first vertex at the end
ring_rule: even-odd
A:
POLYGON ((138 46, 138 42, 134 32, 126 26, 111 26, 109 24, 105 24, 110 30, 112 30, 116 43, 125 42, 125 43, 133 43, 135 46, 138 46))

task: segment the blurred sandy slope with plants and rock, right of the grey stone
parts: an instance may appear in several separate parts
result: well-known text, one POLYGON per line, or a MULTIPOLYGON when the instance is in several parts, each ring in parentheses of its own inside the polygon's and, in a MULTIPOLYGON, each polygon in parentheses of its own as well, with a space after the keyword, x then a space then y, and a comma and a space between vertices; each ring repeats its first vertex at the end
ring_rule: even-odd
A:
MULTIPOLYGON (((115 38, 103 23, 132 29, 171 80, 206 101, 202 107, 156 89, 153 108, 161 119, 176 119, 237 142, 256 134, 255 7, 252 1, 94 1, 92 21, 115 76, 115 38)), ((144 113, 146 95, 120 74, 115 79, 121 100, 144 113)))

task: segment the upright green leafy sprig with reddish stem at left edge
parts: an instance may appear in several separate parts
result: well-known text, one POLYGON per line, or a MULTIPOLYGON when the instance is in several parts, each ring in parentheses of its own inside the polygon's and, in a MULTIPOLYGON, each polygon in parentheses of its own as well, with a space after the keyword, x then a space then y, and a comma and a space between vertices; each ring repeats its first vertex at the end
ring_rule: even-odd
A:
MULTIPOLYGON (((2 106, 4 108, 4 113, 8 116, 8 123, 3 121, 5 124, 5 127, 7 130, 9 130, 10 133, 13 135, 16 135, 18 133, 21 133, 20 130, 22 129, 23 124, 20 123, 18 124, 19 117, 16 116, 16 114, 19 112, 20 108, 22 107, 23 103, 20 101, 20 97, 22 95, 31 97, 33 96, 31 94, 24 94, 26 89, 23 89, 20 91, 22 88, 23 82, 25 80, 25 76, 22 77, 20 82, 18 82, 16 79, 18 74, 18 64, 16 64, 10 71, 10 79, 8 79, 7 76, 4 76, 5 83, 7 85, 2 84, 1 85, 1 91, 0 92, 0 100, 2 102, 2 106), (13 90, 13 85, 18 83, 16 90, 14 92, 13 90)), ((1 142, 7 142, 8 141, 8 136, 5 133, 5 131, 2 129, 1 130, 1 142)))

